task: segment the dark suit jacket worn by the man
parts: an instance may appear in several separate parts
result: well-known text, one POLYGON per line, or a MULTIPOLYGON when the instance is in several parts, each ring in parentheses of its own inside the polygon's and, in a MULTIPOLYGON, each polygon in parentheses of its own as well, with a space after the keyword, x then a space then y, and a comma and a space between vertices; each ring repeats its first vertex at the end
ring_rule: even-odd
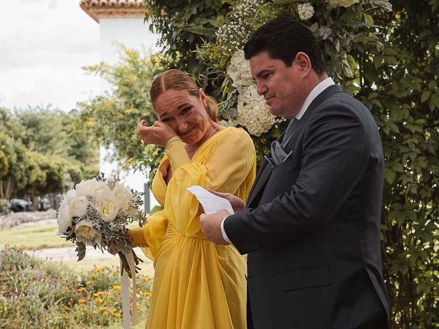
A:
POLYGON ((372 115, 330 86, 307 108, 285 151, 292 151, 286 162, 261 165, 248 208, 224 221, 230 241, 248 253, 254 328, 387 327, 384 160, 372 115))

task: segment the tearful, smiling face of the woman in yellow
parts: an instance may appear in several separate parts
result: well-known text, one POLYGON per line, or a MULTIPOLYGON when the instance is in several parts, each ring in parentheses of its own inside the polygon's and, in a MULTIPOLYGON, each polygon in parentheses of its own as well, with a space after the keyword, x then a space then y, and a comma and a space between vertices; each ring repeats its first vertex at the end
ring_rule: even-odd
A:
POLYGON ((206 95, 200 89, 200 96, 189 95, 185 90, 167 90, 157 97, 154 110, 158 119, 180 136, 183 142, 193 145, 209 136, 213 121, 204 108, 206 95))

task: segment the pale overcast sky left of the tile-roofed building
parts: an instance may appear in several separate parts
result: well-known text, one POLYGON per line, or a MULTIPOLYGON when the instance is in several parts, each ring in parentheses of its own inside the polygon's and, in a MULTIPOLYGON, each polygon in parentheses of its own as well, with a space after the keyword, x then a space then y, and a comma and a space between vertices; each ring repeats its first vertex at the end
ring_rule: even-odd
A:
POLYGON ((0 0, 0 105, 69 111, 99 92, 99 24, 79 0, 0 0))

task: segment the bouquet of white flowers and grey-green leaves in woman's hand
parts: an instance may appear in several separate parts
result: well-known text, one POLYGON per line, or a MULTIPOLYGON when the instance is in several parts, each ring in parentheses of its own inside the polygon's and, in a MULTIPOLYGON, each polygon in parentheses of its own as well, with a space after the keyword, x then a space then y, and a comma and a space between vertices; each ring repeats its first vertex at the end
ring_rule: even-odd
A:
POLYGON ((117 176, 105 179, 101 173, 91 180, 83 180, 67 191, 62 200, 58 234, 77 245, 78 260, 84 258, 86 245, 119 254, 121 275, 125 270, 132 278, 126 256, 132 254, 136 272, 142 260, 126 238, 126 226, 133 221, 138 221, 140 226, 146 222, 145 213, 139 210, 143 204, 141 195, 120 184, 117 176))

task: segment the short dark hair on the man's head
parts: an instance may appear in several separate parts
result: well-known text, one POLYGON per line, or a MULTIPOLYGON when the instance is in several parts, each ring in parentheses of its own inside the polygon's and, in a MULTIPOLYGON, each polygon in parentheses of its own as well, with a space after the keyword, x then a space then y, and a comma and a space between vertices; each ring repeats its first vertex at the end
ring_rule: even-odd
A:
POLYGON ((267 51, 270 58, 282 60, 285 66, 292 65, 297 53, 306 53, 311 67, 318 76, 326 72, 322 49, 313 32, 302 23, 289 17, 279 17, 262 25, 248 38, 244 46, 246 60, 267 51))

